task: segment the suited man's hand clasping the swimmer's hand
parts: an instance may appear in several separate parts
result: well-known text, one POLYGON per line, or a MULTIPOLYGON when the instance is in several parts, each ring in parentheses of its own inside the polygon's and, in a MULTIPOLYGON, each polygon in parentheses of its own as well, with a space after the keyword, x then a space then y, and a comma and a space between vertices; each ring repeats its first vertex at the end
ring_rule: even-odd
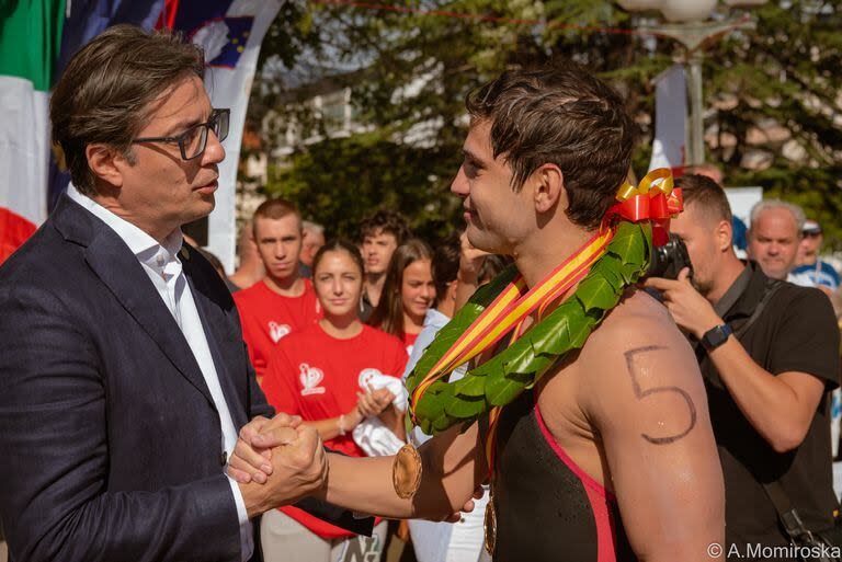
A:
MULTIPOLYGON (((265 448, 269 443, 283 443, 289 427, 264 427, 252 440, 265 448)), ((319 433, 315 427, 299 425, 297 438, 272 450, 272 474, 266 483, 240 484, 249 517, 269 509, 289 505, 325 486, 328 460, 319 433)))

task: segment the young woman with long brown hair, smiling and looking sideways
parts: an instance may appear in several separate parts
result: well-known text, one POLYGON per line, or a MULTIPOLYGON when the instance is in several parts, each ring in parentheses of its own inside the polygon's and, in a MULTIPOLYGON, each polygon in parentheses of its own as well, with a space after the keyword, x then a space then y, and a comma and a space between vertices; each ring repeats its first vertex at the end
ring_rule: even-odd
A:
POLYGON ((419 239, 408 240, 391 255, 380 300, 368 324, 401 339, 407 354, 424 328, 426 311, 435 301, 433 251, 419 239))

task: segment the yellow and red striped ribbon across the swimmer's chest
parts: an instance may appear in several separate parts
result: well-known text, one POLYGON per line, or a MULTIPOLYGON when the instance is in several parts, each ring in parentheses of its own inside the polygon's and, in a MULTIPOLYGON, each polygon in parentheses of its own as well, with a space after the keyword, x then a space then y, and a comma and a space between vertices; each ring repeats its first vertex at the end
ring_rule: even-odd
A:
POLYGON ((459 365, 469 362, 499 342, 514 326, 521 324, 538 307, 546 308, 553 300, 570 289, 588 274, 599 260, 605 246, 614 237, 608 228, 599 232, 565 260, 547 277, 523 295, 526 283, 517 276, 468 326, 465 333, 436 362, 430 372, 418 385, 410 397, 410 412, 426 390, 441 378, 450 375, 459 365), (523 296, 522 296, 523 295, 523 296))

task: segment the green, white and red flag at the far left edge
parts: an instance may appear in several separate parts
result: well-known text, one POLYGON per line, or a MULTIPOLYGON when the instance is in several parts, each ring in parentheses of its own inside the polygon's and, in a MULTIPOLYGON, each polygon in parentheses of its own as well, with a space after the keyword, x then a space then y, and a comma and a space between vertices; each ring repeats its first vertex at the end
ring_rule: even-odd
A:
POLYGON ((21 0, 0 11, 0 263, 47 214, 47 107, 65 8, 21 0))

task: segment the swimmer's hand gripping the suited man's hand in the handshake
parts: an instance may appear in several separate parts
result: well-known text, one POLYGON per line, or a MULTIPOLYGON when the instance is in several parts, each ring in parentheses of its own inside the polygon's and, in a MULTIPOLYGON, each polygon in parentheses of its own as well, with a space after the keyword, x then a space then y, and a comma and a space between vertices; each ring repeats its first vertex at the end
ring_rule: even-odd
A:
POLYGON ((295 441, 298 438, 296 428, 300 424, 300 416, 280 413, 272 420, 259 415, 243 425, 228 461, 228 475, 241 484, 252 481, 265 483, 273 470, 272 448, 295 441), (263 446, 257 445, 254 437, 263 429, 274 429, 276 440, 264 443, 263 446))

